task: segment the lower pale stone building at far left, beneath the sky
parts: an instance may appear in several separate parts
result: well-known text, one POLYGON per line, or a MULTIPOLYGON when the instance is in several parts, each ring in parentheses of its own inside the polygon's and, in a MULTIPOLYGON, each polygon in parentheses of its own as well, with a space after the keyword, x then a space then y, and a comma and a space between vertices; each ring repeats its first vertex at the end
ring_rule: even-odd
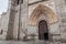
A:
POLYGON ((0 26, 0 40, 6 40, 7 31, 8 31, 8 13, 2 13, 1 15, 1 26, 0 26))

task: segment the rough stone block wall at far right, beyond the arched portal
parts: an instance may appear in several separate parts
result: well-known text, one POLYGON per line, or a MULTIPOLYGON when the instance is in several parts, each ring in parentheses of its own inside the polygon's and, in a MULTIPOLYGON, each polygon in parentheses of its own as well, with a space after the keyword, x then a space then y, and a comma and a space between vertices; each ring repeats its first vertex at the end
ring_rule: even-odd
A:
POLYGON ((59 32, 61 32, 61 37, 63 40, 66 40, 66 4, 65 0, 57 0, 55 2, 55 8, 56 8, 56 13, 58 14, 59 18, 59 32))

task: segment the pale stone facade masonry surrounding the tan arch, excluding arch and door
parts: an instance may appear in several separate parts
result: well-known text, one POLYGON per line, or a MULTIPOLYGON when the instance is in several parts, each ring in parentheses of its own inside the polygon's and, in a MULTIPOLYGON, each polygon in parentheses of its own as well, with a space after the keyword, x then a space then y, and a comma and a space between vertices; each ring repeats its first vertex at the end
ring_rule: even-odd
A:
MULTIPOLYGON (((37 8, 38 4, 43 4, 50 8, 58 18, 57 22, 52 24, 48 23, 48 32, 50 34, 52 34, 53 40, 61 40, 61 38, 66 40, 65 1, 64 0, 48 0, 42 2, 37 2, 37 1, 40 0, 33 0, 33 1, 23 0, 23 3, 18 4, 15 0, 10 0, 7 16, 3 18, 7 19, 7 22, 4 21, 6 25, 3 26, 3 29, 6 28, 6 30, 8 31, 4 30, 3 35, 1 35, 1 37, 3 36, 3 38, 6 38, 7 36, 8 38, 13 38, 13 40, 18 40, 19 37, 20 40, 23 40, 25 35, 35 33, 37 35, 36 38, 38 38, 38 26, 37 24, 34 26, 30 25, 29 19, 31 18, 30 15, 34 11, 34 9, 37 8), (33 2, 36 3, 30 4, 33 2)), ((38 20, 44 20, 44 19, 46 20, 46 16, 40 14, 36 22, 38 23, 38 20)))

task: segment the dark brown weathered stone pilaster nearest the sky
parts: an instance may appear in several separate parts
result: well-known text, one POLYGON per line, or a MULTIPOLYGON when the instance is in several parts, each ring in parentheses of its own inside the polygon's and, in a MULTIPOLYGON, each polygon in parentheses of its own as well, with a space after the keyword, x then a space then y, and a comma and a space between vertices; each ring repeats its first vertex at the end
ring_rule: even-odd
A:
POLYGON ((13 40, 13 28, 14 28, 14 16, 15 16, 15 1, 10 0, 9 6, 9 24, 8 24, 8 32, 7 32, 7 40, 13 40))

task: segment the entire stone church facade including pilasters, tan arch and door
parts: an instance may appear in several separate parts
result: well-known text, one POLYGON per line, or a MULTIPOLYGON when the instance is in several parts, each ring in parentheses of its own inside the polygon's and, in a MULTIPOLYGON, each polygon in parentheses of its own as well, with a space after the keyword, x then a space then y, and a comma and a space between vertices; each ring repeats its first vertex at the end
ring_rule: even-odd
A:
POLYGON ((9 0, 4 40, 66 41, 65 0, 9 0))

